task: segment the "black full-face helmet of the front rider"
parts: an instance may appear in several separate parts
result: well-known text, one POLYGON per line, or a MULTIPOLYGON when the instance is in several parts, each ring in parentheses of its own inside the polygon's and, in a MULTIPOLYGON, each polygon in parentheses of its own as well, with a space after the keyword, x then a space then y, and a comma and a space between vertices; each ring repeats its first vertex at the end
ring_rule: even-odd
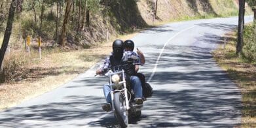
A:
POLYGON ((117 59, 122 58, 122 54, 124 54, 124 42, 122 40, 115 40, 112 45, 113 54, 117 59))

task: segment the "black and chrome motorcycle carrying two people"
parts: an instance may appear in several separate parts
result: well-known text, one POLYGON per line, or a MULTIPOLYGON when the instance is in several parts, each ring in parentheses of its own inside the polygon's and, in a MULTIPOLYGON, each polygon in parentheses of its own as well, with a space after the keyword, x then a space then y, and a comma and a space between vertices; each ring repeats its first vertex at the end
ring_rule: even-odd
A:
POLYGON ((143 104, 136 104, 134 101, 134 92, 130 88, 130 80, 127 78, 124 70, 120 67, 115 70, 109 70, 105 76, 109 77, 111 88, 111 111, 119 121, 121 127, 128 127, 130 118, 140 118, 143 104), (121 70, 120 70, 121 69, 121 70))

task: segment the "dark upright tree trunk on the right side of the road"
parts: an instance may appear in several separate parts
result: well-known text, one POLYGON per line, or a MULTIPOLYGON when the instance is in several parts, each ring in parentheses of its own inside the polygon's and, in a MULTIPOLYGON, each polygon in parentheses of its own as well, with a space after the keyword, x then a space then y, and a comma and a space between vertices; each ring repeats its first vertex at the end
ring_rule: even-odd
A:
POLYGON ((239 0, 238 42, 236 44, 236 56, 241 56, 242 54, 245 4, 246 4, 245 0, 239 0))

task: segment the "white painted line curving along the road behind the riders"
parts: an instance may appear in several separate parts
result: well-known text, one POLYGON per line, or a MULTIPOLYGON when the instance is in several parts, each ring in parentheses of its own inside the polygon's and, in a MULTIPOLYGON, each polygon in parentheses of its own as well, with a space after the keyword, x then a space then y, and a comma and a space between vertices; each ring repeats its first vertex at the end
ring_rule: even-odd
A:
POLYGON ((156 69, 157 69, 157 65, 158 65, 159 59, 160 59, 160 57, 162 56, 162 53, 164 52, 164 48, 166 47, 166 45, 168 44, 168 42, 170 42, 170 40, 174 39, 174 37, 176 37, 177 35, 183 33, 184 31, 187 31, 187 30, 189 30, 189 29, 192 29, 192 27, 195 27, 195 26, 196 26, 196 25, 193 25, 193 26, 191 26, 191 27, 188 27, 187 29, 183 29, 182 31, 179 31, 179 33, 176 33, 174 36, 172 36, 170 39, 168 39, 168 40, 166 41, 166 43, 164 43, 164 46, 162 47, 162 50, 161 50, 161 52, 160 52, 160 54, 159 54, 159 56, 158 56, 158 58, 157 58, 157 60, 156 60, 156 64, 155 64, 155 67, 154 67, 154 69, 153 69, 153 72, 151 73, 151 76, 149 77, 149 79, 147 80, 147 82, 150 82, 151 79, 153 78, 153 76, 154 76, 154 74, 155 74, 155 72, 156 72, 156 69))

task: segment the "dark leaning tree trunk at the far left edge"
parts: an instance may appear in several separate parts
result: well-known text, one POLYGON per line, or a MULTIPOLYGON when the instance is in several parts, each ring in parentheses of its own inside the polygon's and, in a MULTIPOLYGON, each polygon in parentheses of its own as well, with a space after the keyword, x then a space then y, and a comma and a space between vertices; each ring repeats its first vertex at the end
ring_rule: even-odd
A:
POLYGON ((12 22, 14 19, 14 11, 16 9, 16 0, 12 0, 9 8, 9 16, 7 20, 7 27, 5 29, 5 36, 3 38, 3 43, 0 49, 0 68, 2 67, 3 59, 5 57, 5 52, 7 50, 7 46, 9 44, 10 35, 12 34, 12 22))

